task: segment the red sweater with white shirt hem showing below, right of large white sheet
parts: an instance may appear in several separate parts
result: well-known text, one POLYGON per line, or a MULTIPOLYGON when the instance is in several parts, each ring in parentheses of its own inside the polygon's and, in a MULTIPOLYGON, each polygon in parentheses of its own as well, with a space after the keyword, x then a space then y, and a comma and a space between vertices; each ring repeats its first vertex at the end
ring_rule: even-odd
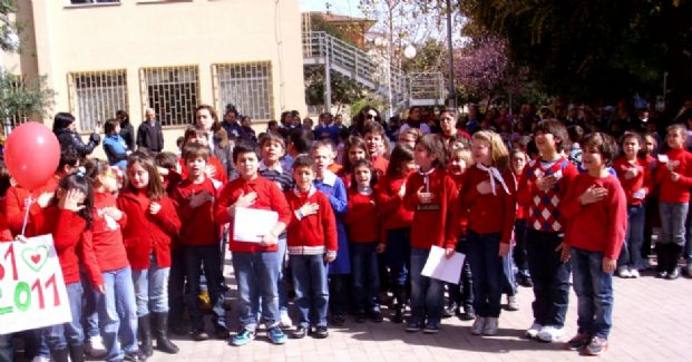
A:
POLYGON ((291 213, 291 222, 286 228, 289 254, 316 255, 326 252, 335 253, 337 217, 324 194, 312 188, 309 193, 290 190, 285 194, 291 213), (316 214, 298 219, 295 211, 308 203, 316 203, 316 214))

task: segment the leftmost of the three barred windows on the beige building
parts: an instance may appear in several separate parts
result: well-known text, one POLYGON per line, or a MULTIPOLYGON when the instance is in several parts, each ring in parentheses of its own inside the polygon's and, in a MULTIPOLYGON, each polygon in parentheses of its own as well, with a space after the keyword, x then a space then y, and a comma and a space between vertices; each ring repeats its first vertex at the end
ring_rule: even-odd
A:
POLYGON ((119 109, 127 109, 125 69, 70 72, 70 110, 80 131, 94 131, 119 109))

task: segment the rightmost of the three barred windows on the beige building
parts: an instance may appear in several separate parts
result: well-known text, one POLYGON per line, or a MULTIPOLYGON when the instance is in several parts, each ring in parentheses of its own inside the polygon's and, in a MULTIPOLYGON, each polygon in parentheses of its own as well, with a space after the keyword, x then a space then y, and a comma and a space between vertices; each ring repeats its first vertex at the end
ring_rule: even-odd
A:
POLYGON ((253 119, 274 118, 270 61, 213 65, 212 76, 217 109, 233 104, 253 119))

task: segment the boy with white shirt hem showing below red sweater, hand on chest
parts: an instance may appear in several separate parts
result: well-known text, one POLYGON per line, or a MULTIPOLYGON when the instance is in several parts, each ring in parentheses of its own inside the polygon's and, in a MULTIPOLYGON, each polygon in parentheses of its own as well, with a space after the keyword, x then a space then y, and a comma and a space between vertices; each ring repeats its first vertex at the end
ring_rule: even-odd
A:
POLYGON ((293 178, 295 189, 285 193, 293 212, 287 227, 287 250, 300 315, 293 337, 302 339, 311 332, 324 339, 329 304, 326 264, 337 258, 337 218, 326 196, 312 185, 312 158, 300 156, 293 162, 293 178))

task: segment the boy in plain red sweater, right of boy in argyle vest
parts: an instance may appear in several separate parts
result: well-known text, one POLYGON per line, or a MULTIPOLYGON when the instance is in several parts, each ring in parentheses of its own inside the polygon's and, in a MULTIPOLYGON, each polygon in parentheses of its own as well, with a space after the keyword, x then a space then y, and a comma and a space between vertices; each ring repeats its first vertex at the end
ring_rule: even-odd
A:
POLYGON ((594 133, 583 146, 587 173, 574 179, 561 206, 567 219, 561 257, 571 261, 577 295, 578 330, 567 346, 598 355, 608 346, 613 324, 613 271, 627 228, 627 198, 607 172, 617 149, 615 140, 594 133))

